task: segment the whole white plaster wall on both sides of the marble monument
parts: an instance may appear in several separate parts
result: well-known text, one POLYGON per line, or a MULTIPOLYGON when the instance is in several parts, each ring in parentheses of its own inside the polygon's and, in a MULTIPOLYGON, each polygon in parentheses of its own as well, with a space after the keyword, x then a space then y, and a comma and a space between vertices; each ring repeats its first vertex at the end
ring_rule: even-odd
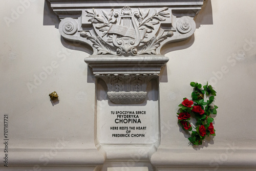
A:
MULTIPOLYGON (((42 0, 31 2, 8 27, 4 18, 11 18, 12 10, 22 6, 20 2, 4 0, 0 6, 0 141, 4 139, 4 114, 8 114, 10 149, 51 149, 58 139, 65 139, 65 149, 96 151, 95 84, 93 78, 88 78, 89 70, 83 62, 90 54, 74 50, 65 53, 67 48, 61 44, 58 30, 43 25, 42 0), (27 84, 33 84, 35 75, 53 61, 57 64, 52 73, 30 91, 27 84), (55 105, 48 96, 53 91, 59 95, 55 105)), ((194 41, 193 45, 172 52, 172 45, 164 49, 170 60, 160 77, 161 123, 167 125, 160 148, 193 149, 180 132, 176 112, 182 98, 190 97, 190 81, 209 80, 217 91, 219 106, 216 137, 194 148, 194 155, 198 150, 207 154, 208 149, 226 149, 228 144, 238 149, 256 148, 256 1, 215 0, 211 5, 213 24, 202 25, 194 37, 179 43, 186 47, 194 41), (247 41, 254 44, 250 47, 247 41), (229 58, 233 54, 237 57, 229 58), (214 81, 214 73, 219 72, 221 76, 214 81)), ((200 14, 208 15, 207 11, 200 14)), ((69 46, 65 41, 63 44, 69 46)), ((2 158, 4 145, 0 144, 2 158)))

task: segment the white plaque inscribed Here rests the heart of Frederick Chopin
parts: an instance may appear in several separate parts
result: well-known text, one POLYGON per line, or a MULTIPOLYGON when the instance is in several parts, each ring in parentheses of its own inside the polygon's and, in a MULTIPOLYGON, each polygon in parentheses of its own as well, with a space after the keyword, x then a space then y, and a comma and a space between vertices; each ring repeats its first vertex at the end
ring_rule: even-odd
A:
POLYGON ((101 144, 156 143, 159 134, 159 115, 157 95, 154 91, 156 90, 148 92, 148 96, 152 99, 132 105, 115 104, 108 100, 105 91, 100 91, 97 100, 98 142, 101 144))

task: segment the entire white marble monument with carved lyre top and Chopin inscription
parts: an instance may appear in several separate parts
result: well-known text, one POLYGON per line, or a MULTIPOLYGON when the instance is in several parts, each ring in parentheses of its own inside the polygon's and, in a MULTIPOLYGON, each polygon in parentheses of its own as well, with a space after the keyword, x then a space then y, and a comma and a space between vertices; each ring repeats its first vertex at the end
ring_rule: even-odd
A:
POLYGON ((98 78, 95 145, 102 169, 134 157, 134 166, 153 169, 160 144, 158 77, 168 61, 161 48, 194 34, 203 0, 48 1, 61 36, 93 49, 84 61, 98 78))

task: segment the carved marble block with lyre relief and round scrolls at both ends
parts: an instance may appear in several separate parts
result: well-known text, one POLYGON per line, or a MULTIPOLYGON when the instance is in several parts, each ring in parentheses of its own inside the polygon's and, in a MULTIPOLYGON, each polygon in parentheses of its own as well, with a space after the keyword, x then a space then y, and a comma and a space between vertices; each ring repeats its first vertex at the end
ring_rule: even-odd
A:
POLYGON ((160 55, 165 44, 184 40, 196 30, 193 17, 175 14, 169 7, 84 9, 77 18, 63 18, 59 32, 90 45, 93 55, 160 55))

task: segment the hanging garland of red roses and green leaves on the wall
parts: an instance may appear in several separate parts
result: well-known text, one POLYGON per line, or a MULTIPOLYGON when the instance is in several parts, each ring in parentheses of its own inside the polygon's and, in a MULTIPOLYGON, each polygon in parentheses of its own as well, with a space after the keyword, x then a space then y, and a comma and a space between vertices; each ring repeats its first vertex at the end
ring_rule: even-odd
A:
POLYGON ((206 135, 215 136, 215 129, 212 125, 214 118, 210 115, 216 115, 218 106, 213 105, 216 91, 212 89, 208 82, 205 86, 196 82, 190 82, 190 86, 194 87, 191 94, 192 100, 183 98, 183 102, 179 104, 181 107, 178 111, 178 123, 182 126, 185 131, 190 131, 191 137, 188 138, 190 144, 201 145, 206 135), (208 98, 207 102, 204 101, 204 95, 208 98), (191 115, 196 117, 196 127, 189 123, 191 115), (193 129, 194 128, 194 129, 193 129))

